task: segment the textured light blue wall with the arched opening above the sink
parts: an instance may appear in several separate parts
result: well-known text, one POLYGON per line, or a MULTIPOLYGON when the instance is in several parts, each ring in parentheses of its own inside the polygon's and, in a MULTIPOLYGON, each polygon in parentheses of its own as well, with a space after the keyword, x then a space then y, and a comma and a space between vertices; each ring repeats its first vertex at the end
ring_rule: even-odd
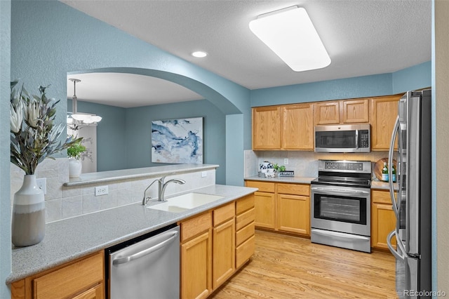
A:
MULTIPOLYGON (((203 95, 224 114, 238 114, 243 128, 226 134, 227 142, 234 142, 234 136, 237 140, 229 154, 243 157, 243 148, 250 148, 247 88, 58 1, 12 1, 12 17, 11 76, 32 91, 51 84, 48 95, 61 100, 57 122, 65 122, 67 73, 132 72, 173 81, 203 95)), ((220 166, 231 169, 243 185, 243 166, 220 166)))

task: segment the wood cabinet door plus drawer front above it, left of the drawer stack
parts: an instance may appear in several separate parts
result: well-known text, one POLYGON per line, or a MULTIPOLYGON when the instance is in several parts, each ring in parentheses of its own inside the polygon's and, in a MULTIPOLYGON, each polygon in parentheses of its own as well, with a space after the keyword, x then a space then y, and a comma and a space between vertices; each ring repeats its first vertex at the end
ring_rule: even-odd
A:
POLYGON ((235 204, 227 204, 213 211, 213 289, 225 282, 235 267, 235 204))

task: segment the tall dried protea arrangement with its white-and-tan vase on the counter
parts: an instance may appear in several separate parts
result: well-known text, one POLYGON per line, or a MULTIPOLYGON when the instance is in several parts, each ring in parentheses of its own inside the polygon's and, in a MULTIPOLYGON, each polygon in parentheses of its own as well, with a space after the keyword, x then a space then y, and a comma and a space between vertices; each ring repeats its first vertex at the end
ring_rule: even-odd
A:
POLYGON ((65 125, 53 125, 59 100, 47 98, 47 87, 39 86, 40 95, 30 95, 23 84, 11 81, 11 163, 25 172, 13 199, 11 241, 15 246, 38 244, 45 235, 45 198, 36 184, 37 166, 76 142, 72 137, 61 141, 65 125))

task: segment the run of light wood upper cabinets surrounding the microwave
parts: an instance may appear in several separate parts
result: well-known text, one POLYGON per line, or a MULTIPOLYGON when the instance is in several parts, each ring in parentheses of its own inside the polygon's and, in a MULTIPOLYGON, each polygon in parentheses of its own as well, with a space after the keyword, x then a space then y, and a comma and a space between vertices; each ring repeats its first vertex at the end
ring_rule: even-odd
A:
POLYGON ((401 95, 253 108, 253 150, 314 150, 314 126, 370 124, 371 150, 388 150, 401 95))

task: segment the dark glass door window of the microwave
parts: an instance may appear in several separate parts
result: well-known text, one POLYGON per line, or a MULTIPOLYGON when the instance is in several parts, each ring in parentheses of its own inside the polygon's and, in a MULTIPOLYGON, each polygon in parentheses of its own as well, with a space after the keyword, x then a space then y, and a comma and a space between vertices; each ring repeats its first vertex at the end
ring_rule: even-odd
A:
POLYGON ((356 131, 316 131, 315 146, 328 149, 356 148, 356 131))

